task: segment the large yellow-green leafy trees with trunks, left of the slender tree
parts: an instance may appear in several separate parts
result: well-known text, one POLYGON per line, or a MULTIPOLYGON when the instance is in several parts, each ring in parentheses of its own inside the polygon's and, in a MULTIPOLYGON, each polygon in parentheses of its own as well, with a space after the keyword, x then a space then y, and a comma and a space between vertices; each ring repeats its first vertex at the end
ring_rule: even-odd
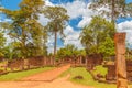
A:
POLYGON ((20 9, 15 11, 1 9, 1 11, 12 20, 12 22, 9 23, 10 29, 8 26, 4 28, 9 29, 9 35, 13 40, 21 43, 21 54, 23 57, 28 56, 26 44, 30 42, 33 43, 34 47, 37 47, 36 56, 43 55, 43 43, 45 42, 43 42, 42 38, 46 37, 46 34, 43 34, 45 29, 37 20, 38 14, 42 13, 44 1, 22 0, 19 6, 20 9))

